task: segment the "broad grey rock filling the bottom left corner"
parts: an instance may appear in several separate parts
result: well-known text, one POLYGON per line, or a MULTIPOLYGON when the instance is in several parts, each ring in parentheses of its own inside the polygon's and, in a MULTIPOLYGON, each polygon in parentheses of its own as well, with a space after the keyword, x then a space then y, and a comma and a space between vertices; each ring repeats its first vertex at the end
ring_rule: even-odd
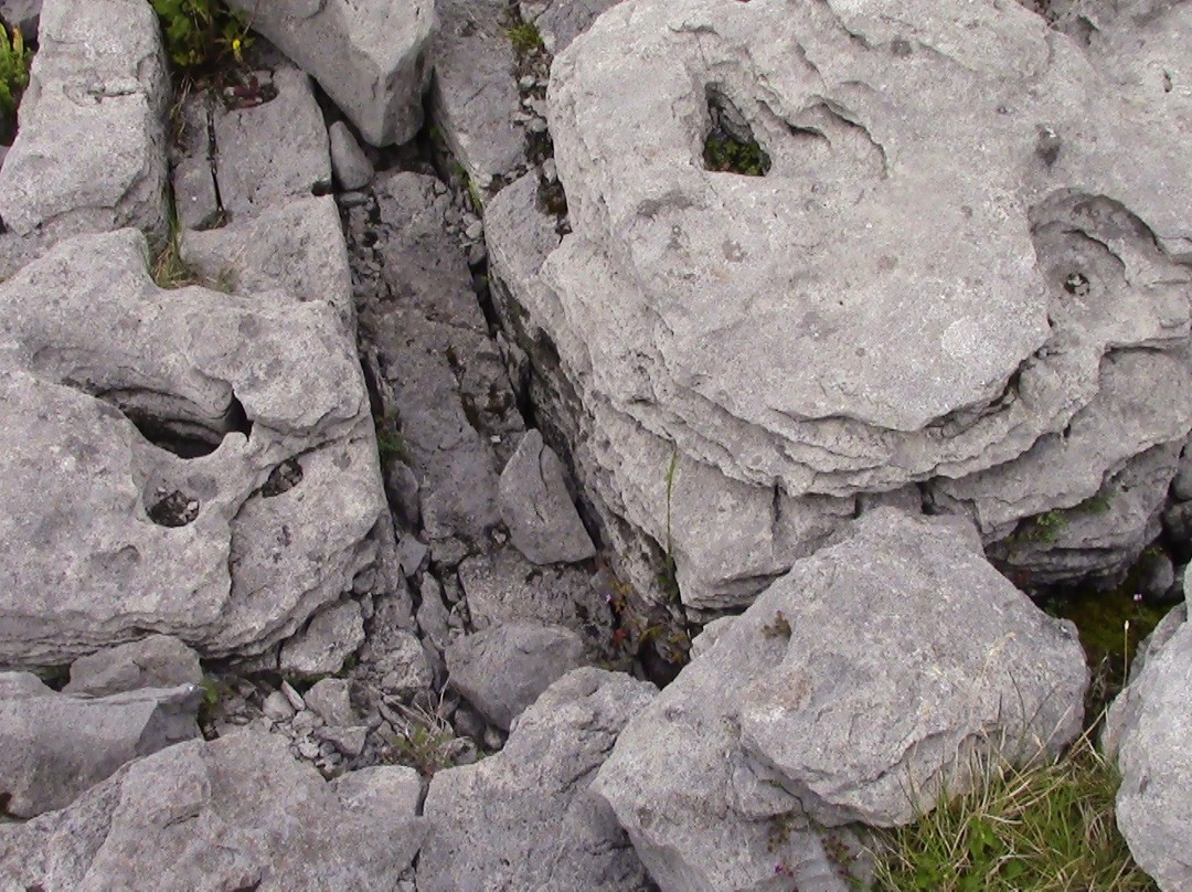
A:
POLYGON ((410 774, 372 768, 328 783, 275 735, 170 747, 63 811, 0 826, 0 886, 398 888, 424 835, 410 774))

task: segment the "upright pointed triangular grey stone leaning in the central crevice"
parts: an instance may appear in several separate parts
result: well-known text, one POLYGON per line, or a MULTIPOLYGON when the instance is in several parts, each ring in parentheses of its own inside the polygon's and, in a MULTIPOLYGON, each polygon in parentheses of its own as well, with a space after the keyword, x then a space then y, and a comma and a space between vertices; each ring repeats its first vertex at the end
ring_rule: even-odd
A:
POLYGON ((570 564, 596 553, 563 473, 538 430, 526 432, 501 472, 501 518, 514 547, 535 564, 570 564))

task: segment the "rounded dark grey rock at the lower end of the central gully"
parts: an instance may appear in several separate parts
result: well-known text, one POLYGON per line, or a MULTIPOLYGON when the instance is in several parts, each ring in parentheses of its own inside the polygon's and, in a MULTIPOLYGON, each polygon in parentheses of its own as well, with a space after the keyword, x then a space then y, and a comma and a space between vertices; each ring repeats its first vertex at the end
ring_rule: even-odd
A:
POLYGON ((507 622, 452 642, 447 669, 464 699, 508 731, 551 682, 579 665, 583 651, 570 628, 507 622))

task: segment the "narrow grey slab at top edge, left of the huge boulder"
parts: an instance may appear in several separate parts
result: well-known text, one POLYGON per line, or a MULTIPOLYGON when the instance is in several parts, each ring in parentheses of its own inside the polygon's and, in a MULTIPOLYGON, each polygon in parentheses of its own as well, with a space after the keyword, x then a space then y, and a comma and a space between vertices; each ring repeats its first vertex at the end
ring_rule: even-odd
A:
POLYGON ((514 123, 520 107, 507 7, 492 0, 439 0, 435 124, 470 181, 488 190, 526 161, 526 135, 514 123))

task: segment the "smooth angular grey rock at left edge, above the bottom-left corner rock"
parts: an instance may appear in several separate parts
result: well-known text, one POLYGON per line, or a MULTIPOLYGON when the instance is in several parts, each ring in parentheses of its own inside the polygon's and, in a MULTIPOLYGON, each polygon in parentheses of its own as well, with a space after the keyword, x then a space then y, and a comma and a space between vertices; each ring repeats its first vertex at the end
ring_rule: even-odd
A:
POLYGON ((4 811, 31 818, 63 809, 125 762, 198 737, 200 702, 193 685, 89 699, 58 694, 27 673, 0 673, 4 811))

